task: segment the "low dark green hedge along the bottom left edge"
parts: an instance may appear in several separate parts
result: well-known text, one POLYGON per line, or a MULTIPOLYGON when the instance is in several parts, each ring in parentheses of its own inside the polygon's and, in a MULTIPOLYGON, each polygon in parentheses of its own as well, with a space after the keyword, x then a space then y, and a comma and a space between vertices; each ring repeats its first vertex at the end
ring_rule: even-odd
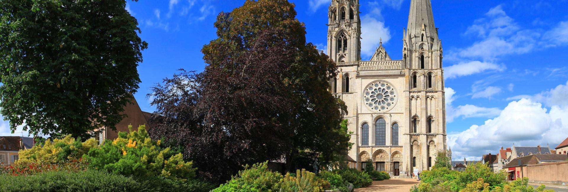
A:
POLYGON ((30 176, 0 174, 0 191, 209 191, 215 186, 199 180, 164 177, 136 179, 101 170, 42 172, 30 176))

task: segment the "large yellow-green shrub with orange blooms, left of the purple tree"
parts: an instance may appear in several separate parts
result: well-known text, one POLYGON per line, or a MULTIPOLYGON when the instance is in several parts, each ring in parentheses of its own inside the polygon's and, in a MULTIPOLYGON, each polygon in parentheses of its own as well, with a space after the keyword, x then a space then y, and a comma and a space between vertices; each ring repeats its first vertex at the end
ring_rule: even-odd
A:
MULTIPOLYGON (((132 126, 128 126, 129 130, 132 126)), ((105 140, 100 147, 93 147, 83 158, 89 168, 107 170, 124 176, 193 179, 193 163, 183 161, 181 153, 170 148, 160 148, 160 140, 150 139, 145 126, 137 131, 121 132, 118 138, 105 140)))

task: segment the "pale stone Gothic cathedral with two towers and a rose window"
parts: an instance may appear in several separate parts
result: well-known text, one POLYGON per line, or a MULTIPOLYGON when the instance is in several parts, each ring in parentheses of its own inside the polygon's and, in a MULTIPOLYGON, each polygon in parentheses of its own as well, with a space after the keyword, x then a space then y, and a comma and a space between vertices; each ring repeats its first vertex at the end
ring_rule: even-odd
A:
POLYGON ((446 149, 442 45, 431 2, 411 0, 399 60, 381 42, 362 61, 359 7, 359 0, 332 0, 328 14, 327 53, 339 67, 330 91, 347 105, 348 155, 358 169, 370 159, 392 176, 429 170, 446 149))

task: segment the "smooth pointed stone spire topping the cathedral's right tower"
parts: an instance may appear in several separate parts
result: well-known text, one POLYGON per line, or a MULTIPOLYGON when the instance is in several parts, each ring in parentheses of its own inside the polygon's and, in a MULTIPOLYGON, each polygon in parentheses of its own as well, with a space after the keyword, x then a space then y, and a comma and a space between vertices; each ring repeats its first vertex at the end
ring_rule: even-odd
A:
POLYGON ((408 33, 410 36, 420 36, 424 30, 427 36, 438 39, 432 3, 430 0, 411 0, 410 13, 408 14, 408 33))

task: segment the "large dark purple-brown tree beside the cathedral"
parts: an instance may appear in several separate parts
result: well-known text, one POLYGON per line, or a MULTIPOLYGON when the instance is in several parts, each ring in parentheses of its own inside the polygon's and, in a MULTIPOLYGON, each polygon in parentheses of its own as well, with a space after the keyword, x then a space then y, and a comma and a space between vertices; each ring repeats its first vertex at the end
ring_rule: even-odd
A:
POLYGON ((324 164, 344 154, 345 105, 328 91, 337 67, 306 43, 295 16, 286 0, 246 1, 220 13, 218 39, 202 49, 205 70, 153 88, 152 136, 177 142, 202 176, 217 181, 282 157, 292 170, 300 151, 324 164))

